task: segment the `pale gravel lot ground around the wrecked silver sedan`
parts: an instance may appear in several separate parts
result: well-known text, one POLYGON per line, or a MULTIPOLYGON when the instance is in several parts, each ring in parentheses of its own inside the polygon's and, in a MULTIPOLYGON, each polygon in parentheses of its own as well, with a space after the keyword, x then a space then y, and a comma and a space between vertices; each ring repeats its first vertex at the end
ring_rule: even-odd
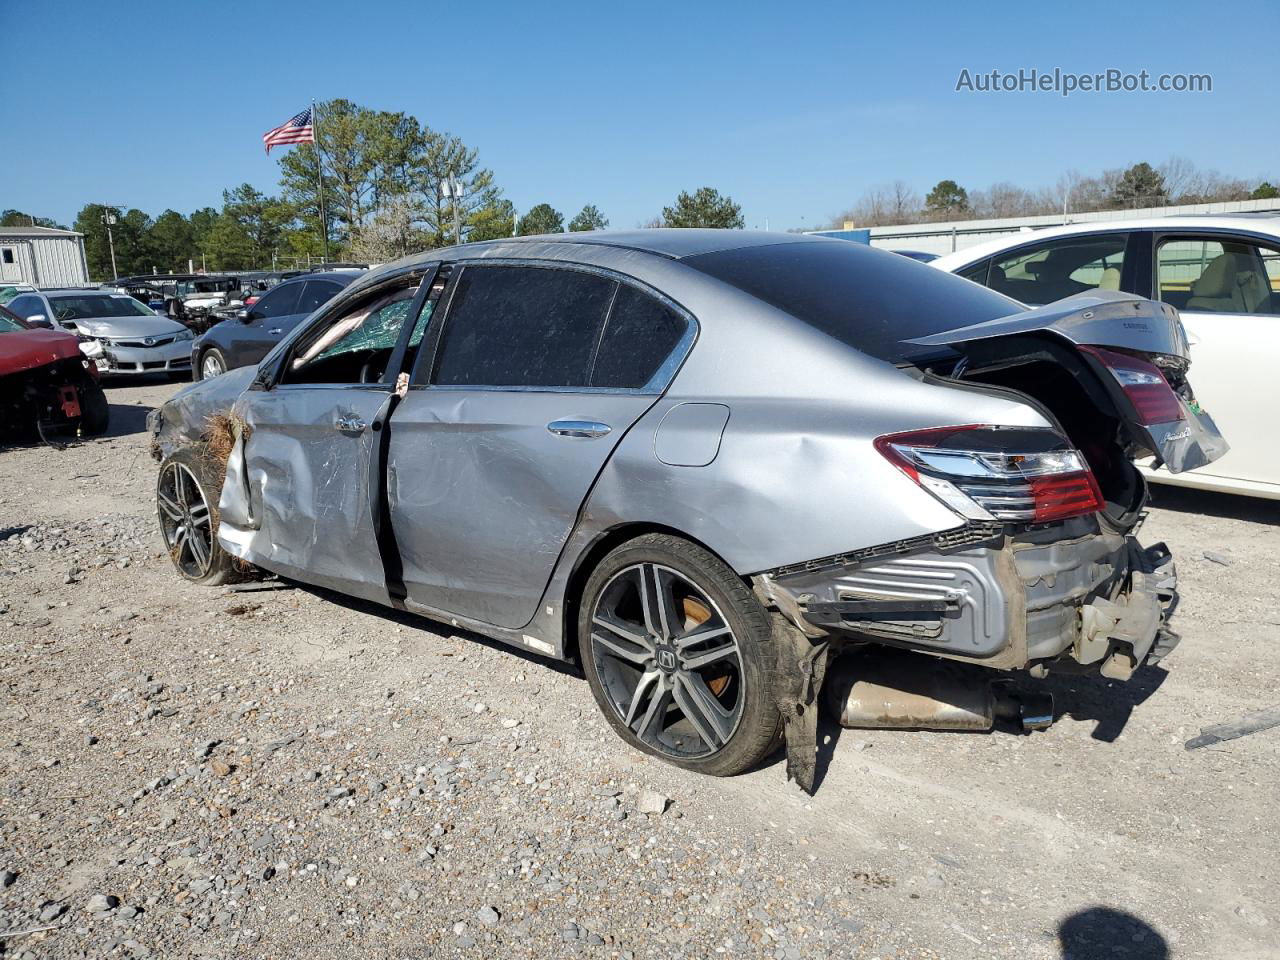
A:
POLYGON ((643 758, 438 623, 180 581, 174 389, 0 451, 0 956, 1280 956, 1280 728, 1183 746, 1280 705, 1280 504, 1157 488, 1162 667, 1047 681, 1033 735, 828 726, 808 797, 643 758))

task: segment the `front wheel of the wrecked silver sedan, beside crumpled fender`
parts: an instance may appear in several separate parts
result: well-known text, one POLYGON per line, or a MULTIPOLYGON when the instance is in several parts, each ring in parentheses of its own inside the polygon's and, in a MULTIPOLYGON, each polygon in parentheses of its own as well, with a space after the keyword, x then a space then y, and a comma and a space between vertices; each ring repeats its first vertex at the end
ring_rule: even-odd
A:
POLYGON ((218 544, 218 494, 225 463, 202 444, 174 451, 160 465, 156 517, 160 538, 178 575, 193 584, 220 586, 241 580, 238 561, 218 544), (183 490, 175 483, 180 477, 183 490))

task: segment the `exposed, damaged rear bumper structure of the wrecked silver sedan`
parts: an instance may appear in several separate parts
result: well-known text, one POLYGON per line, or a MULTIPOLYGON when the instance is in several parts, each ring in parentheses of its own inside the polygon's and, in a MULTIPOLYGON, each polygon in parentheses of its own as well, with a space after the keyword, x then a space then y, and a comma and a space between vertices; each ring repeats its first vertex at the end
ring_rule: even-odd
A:
POLYGON ((1178 644, 1178 577, 1164 544, 1092 518, 803 571, 760 588, 810 637, 846 635, 997 669, 1037 664, 1124 680, 1178 644))

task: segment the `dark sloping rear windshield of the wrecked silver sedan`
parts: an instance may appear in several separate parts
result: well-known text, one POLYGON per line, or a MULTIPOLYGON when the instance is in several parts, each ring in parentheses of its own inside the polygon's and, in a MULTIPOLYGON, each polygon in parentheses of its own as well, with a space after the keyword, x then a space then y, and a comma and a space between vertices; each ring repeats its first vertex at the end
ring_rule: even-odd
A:
POLYGON ((681 262, 892 364, 940 353, 904 340, 1025 310, 986 287, 850 241, 741 247, 681 262))

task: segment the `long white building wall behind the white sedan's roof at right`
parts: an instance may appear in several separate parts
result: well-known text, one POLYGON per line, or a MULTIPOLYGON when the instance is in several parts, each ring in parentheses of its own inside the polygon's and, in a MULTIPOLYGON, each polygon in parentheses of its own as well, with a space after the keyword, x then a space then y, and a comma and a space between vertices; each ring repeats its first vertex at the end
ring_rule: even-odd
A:
POLYGON ((888 250, 919 250, 924 253, 951 253, 1024 229, 1060 227, 1091 220, 1138 220, 1149 216, 1185 216, 1187 214, 1243 214, 1254 211, 1280 212, 1280 200, 1235 200, 1224 204, 1184 204, 1180 206, 1143 207, 1140 210, 1100 210, 1089 214, 1051 214, 1048 216, 1015 216, 1002 220, 952 220, 950 223, 914 223, 897 227, 872 227, 872 246, 888 250))

